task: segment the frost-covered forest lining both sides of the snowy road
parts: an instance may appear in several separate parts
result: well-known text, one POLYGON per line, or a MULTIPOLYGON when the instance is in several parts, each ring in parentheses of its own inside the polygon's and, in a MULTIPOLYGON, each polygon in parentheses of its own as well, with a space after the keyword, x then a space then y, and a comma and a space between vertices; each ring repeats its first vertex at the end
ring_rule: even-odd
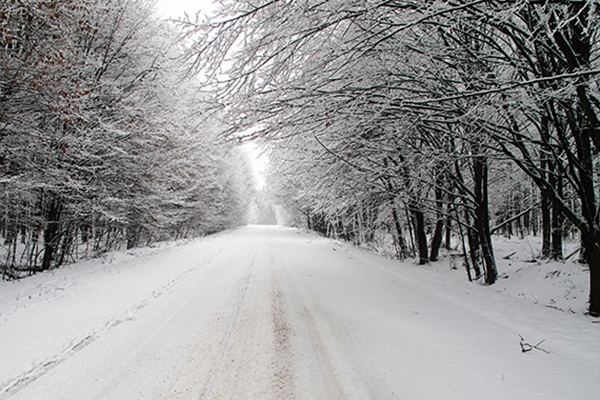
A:
POLYGON ((2 2, 5 277, 243 224, 256 141, 290 224, 488 285, 492 235, 539 235, 600 316, 596 1, 220 3, 2 2))

